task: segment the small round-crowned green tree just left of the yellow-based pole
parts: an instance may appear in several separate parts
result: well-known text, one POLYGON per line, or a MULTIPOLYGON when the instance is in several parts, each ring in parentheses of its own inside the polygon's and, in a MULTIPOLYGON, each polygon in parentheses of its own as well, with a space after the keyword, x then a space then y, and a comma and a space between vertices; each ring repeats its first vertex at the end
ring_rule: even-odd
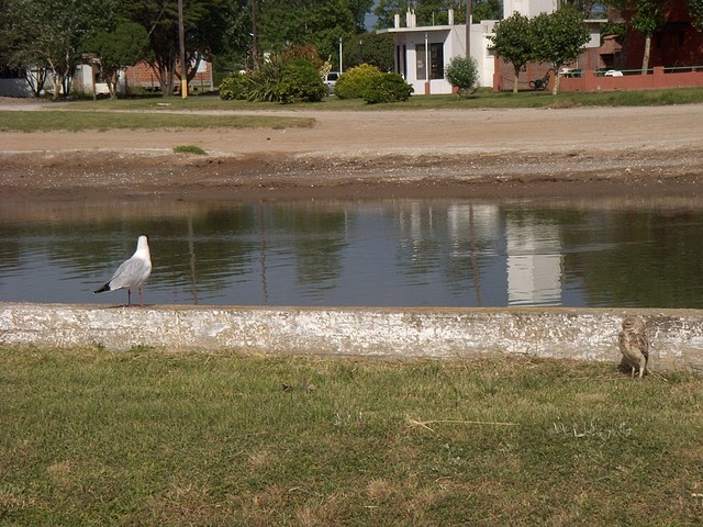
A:
POLYGON ((118 97, 118 75, 127 66, 146 58, 149 35, 136 22, 122 22, 113 31, 100 31, 85 38, 82 48, 100 59, 100 71, 110 97, 118 97))

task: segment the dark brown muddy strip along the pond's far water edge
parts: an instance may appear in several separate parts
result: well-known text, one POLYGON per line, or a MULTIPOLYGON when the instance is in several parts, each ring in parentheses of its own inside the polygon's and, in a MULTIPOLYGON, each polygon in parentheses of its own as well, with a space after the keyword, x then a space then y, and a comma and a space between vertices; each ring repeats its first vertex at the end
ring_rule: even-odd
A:
POLYGON ((326 159, 131 153, 2 154, 3 200, 698 195, 696 150, 326 159))

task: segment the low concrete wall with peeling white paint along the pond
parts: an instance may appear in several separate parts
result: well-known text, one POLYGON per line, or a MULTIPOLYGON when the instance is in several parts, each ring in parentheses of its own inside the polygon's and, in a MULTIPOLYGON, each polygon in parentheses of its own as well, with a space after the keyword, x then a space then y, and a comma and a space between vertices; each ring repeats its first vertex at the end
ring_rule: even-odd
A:
POLYGON ((652 369, 703 369, 703 311, 696 310, 0 303, 0 344, 434 358, 499 352, 617 363, 617 332, 626 314, 640 314, 647 321, 652 369))

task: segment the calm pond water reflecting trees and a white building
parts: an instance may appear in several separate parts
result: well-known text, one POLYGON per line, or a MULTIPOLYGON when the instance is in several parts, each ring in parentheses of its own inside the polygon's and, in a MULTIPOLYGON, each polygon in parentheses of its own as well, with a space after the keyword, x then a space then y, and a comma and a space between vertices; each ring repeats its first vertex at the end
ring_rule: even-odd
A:
POLYGON ((13 204, 0 301, 125 303, 146 233, 148 304, 703 307, 698 201, 13 204))

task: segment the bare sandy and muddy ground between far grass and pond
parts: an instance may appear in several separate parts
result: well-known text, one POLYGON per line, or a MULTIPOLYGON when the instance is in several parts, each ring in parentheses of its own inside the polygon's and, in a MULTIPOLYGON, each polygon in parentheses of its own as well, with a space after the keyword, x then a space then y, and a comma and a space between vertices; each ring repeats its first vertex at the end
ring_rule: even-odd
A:
MULTIPOLYGON (((0 110, 10 106, 25 108, 0 103, 0 110)), ((690 197, 703 182, 701 104, 266 113, 310 116, 315 125, 0 132, 0 195, 5 201, 690 197), (208 154, 174 154, 177 145, 208 154)))

